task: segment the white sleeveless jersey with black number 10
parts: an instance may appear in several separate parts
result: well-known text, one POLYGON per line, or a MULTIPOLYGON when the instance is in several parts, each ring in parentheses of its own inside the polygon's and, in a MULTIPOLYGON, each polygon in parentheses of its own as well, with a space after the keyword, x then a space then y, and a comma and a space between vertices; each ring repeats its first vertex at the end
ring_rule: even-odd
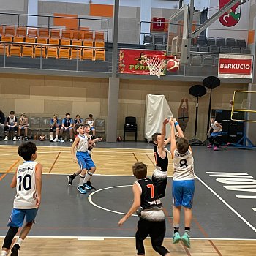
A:
POLYGON ((36 208, 36 165, 37 162, 26 161, 17 170, 16 196, 13 208, 32 209, 36 208))

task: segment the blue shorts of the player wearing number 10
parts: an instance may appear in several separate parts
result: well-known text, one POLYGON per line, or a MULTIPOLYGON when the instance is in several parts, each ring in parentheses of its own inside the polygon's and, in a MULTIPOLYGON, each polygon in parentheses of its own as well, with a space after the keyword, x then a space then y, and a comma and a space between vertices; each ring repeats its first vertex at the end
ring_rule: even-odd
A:
POLYGON ((8 227, 22 227, 24 219, 26 222, 34 222, 37 216, 38 208, 34 209, 12 209, 12 214, 10 216, 8 227))

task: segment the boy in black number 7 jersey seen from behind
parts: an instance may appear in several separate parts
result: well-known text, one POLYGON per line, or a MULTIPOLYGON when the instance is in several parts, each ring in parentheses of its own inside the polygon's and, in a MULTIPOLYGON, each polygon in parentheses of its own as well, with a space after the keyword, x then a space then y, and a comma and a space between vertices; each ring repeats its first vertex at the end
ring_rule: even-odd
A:
POLYGON ((170 256, 167 249, 162 246, 165 237, 165 214, 162 210, 162 203, 159 200, 157 190, 150 178, 147 178, 147 165, 143 162, 136 162, 132 166, 132 172, 138 181, 135 181, 132 187, 134 200, 127 214, 121 218, 118 225, 124 222, 138 209, 139 221, 136 232, 137 255, 145 255, 143 241, 149 235, 153 249, 159 255, 170 256))

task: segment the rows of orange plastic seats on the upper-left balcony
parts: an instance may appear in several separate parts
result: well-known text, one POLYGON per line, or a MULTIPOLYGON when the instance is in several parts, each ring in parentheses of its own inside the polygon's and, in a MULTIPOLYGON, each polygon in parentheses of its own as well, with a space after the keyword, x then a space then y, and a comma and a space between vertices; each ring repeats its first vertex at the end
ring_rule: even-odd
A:
POLYGON ((68 30, 0 26, 0 37, 2 42, 15 42, 15 44, 9 43, 5 46, 4 43, 0 44, 0 54, 5 53, 7 56, 29 56, 31 58, 42 56, 55 59, 76 59, 78 56, 80 60, 105 61, 104 32, 89 31, 89 28, 68 30), (28 43, 28 45, 19 45, 18 42, 28 43), (72 45, 74 45, 73 48, 72 45))

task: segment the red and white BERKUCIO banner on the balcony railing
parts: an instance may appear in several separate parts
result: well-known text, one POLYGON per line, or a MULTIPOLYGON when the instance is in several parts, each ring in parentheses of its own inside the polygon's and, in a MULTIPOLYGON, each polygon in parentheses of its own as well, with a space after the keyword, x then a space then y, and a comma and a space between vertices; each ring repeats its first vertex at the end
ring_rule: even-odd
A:
POLYGON ((252 78, 252 56, 219 54, 220 78, 252 78))

